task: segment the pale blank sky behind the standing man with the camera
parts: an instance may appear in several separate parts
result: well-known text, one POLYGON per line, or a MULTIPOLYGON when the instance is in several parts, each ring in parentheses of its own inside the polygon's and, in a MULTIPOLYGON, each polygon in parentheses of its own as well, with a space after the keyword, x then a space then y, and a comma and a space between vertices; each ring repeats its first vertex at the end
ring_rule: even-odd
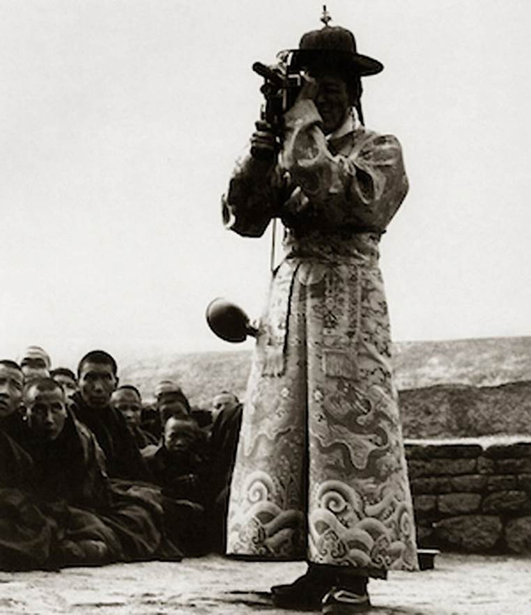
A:
MULTIPOLYGON (((220 195, 258 116, 252 63, 321 9, 0 0, 0 355, 252 347, 215 338, 204 310, 225 296, 260 314, 271 236, 225 231, 220 195)), ((366 125, 404 149, 411 188, 381 244, 393 339, 531 335, 531 3, 328 10, 384 63, 366 125)))

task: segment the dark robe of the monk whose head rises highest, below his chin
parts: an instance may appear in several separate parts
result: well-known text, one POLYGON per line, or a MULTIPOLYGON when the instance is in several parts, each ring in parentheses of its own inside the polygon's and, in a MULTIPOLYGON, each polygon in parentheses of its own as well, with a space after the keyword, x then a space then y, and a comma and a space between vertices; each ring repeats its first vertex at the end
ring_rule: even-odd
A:
POLYGON ((122 413, 110 406, 91 408, 79 394, 72 399, 74 415, 93 432, 105 453, 109 477, 149 480, 149 472, 122 413))

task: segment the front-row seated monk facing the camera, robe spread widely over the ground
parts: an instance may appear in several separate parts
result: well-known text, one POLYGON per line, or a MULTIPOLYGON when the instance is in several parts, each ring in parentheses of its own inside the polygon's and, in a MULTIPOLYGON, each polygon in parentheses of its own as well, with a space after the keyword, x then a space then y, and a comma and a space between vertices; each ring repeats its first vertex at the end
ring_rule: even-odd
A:
POLYGON ((104 454, 95 436, 69 413, 60 384, 33 380, 24 399, 35 489, 60 510, 64 530, 56 564, 133 561, 160 554, 179 559, 180 552, 165 541, 160 490, 107 479, 104 454))

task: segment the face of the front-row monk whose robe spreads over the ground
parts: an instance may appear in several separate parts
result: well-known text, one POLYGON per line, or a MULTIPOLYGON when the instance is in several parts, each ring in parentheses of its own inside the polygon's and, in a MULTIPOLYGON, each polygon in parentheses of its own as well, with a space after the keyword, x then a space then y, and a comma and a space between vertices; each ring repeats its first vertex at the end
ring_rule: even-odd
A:
POLYGON ((30 385, 25 394, 25 406, 28 425, 39 439, 53 442, 61 435, 67 413, 64 393, 59 387, 39 391, 30 385))

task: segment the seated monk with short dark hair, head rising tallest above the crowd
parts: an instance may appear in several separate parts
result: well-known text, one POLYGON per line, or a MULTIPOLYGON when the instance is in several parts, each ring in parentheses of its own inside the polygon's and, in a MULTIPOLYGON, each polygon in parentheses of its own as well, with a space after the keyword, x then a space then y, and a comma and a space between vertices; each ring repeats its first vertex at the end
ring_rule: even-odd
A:
POLYGON ((96 436, 111 478, 148 480, 149 473, 120 411, 110 405, 118 384, 117 365, 104 351, 88 352, 77 368, 79 394, 72 399, 76 418, 96 436))

